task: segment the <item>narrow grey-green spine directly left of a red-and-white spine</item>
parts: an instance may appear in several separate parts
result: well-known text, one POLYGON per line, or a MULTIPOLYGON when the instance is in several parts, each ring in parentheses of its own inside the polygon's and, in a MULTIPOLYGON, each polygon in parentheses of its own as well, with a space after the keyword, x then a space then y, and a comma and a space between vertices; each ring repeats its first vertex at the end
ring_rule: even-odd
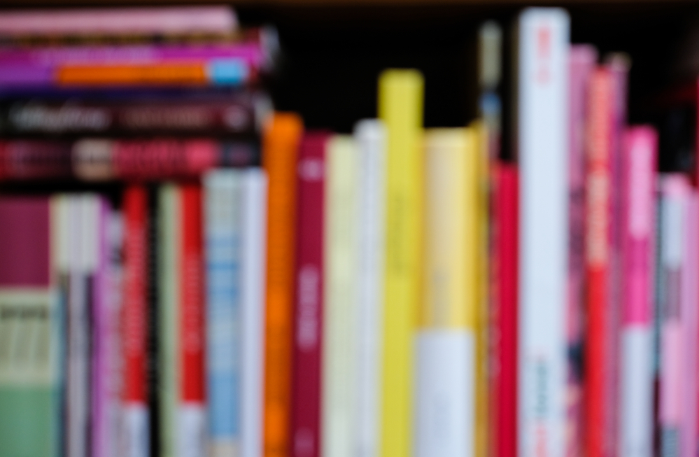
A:
POLYGON ((181 205, 180 190, 174 183, 165 183, 158 189, 158 415, 160 416, 160 456, 178 457, 176 427, 180 393, 181 344, 178 323, 181 302, 179 272, 181 271, 181 205))

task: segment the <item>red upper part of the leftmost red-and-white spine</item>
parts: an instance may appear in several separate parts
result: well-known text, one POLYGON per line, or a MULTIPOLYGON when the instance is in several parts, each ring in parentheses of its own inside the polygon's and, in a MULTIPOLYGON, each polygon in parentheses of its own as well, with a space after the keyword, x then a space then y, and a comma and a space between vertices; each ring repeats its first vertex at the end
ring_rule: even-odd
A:
POLYGON ((122 399, 143 405, 146 391, 148 287, 148 193, 141 185, 124 192, 124 295, 122 304, 122 399))

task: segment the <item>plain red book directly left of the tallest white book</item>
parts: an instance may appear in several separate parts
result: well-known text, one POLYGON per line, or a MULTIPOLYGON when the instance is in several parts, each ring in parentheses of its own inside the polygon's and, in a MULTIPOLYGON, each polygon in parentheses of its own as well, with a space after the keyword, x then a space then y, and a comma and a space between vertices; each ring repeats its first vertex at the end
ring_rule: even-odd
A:
POLYGON ((517 456, 519 183, 514 164, 493 170, 493 456, 517 456))

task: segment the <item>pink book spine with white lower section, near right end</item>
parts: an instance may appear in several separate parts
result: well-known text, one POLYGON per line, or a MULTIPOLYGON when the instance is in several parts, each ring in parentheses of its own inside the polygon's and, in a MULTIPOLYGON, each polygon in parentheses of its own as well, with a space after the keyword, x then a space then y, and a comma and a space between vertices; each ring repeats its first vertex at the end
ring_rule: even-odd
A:
MULTIPOLYGON (((653 455, 652 302, 657 134, 625 132, 622 157, 623 297, 619 447, 622 455, 653 455)), ((699 321, 698 321, 699 323, 699 321)))

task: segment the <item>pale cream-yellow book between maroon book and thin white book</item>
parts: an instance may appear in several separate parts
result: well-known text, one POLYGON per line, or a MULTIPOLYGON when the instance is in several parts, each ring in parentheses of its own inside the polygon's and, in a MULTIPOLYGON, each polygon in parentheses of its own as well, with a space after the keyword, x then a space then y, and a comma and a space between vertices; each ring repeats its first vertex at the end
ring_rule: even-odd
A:
POLYGON ((325 164, 321 455, 353 457, 359 333, 359 156, 353 137, 332 136, 327 141, 325 164))

